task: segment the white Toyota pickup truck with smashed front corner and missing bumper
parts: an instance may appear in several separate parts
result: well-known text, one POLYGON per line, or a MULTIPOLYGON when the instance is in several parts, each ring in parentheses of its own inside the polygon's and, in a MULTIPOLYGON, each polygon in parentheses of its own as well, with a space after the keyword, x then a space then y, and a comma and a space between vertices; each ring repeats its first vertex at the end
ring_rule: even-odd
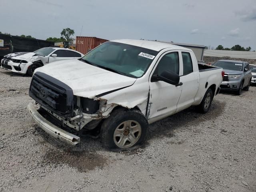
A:
POLYGON ((110 150, 142 146, 148 124, 192 105, 206 113, 222 68, 198 64, 192 50, 146 40, 114 40, 81 59, 35 70, 28 105, 34 121, 72 145, 71 132, 98 133, 110 150))

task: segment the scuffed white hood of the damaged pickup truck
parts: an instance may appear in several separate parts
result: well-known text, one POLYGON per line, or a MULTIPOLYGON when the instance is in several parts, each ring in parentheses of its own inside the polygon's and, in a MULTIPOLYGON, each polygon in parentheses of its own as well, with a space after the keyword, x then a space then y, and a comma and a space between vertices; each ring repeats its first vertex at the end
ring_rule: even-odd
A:
POLYGON ((77 59, 62 60, 37 68, 68 85, 76 96, 94 98, 96 95, 134 84, 136 78, 120 75, 92 66, 77 59))

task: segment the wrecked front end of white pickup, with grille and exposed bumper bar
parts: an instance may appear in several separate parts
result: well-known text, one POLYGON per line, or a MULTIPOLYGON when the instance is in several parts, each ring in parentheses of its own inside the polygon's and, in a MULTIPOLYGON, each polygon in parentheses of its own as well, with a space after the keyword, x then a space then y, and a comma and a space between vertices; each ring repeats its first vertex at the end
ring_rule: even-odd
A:
POLYGON ((34 121, 50 135, 74 146, 79 145, 80 138, 64 129, 93 130, 116 106, 102 98, 75 96, 69 86, 40 72, 32 78, 29 95, 40 106, 36 110, 33 104, 28 105, 34 121))

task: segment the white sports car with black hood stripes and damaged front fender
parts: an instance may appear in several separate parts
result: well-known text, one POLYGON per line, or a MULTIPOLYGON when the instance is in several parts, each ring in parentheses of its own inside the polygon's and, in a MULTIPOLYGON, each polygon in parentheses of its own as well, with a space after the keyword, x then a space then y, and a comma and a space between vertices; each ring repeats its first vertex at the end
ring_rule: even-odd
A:
POLYGON ((10 53, 1 60, 1 68, 6 70, 33 75, 34 70, 45 64, 66 59, 78 59, 82 53, 66 48, 44 47, 35 52, 10 53))

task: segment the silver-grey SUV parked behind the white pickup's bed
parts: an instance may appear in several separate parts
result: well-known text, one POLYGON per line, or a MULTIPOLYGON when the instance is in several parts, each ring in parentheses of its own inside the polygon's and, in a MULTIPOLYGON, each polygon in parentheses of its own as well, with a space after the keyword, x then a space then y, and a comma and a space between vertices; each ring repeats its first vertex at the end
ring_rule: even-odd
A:
POLYGON ((242 90, 249 90, 252 72, 247 62, 234 60, 218 60, 213 66, 222 67, 224 69, 224 77, 220 85, 221 90, 232 90, 237 95, 242 90))

